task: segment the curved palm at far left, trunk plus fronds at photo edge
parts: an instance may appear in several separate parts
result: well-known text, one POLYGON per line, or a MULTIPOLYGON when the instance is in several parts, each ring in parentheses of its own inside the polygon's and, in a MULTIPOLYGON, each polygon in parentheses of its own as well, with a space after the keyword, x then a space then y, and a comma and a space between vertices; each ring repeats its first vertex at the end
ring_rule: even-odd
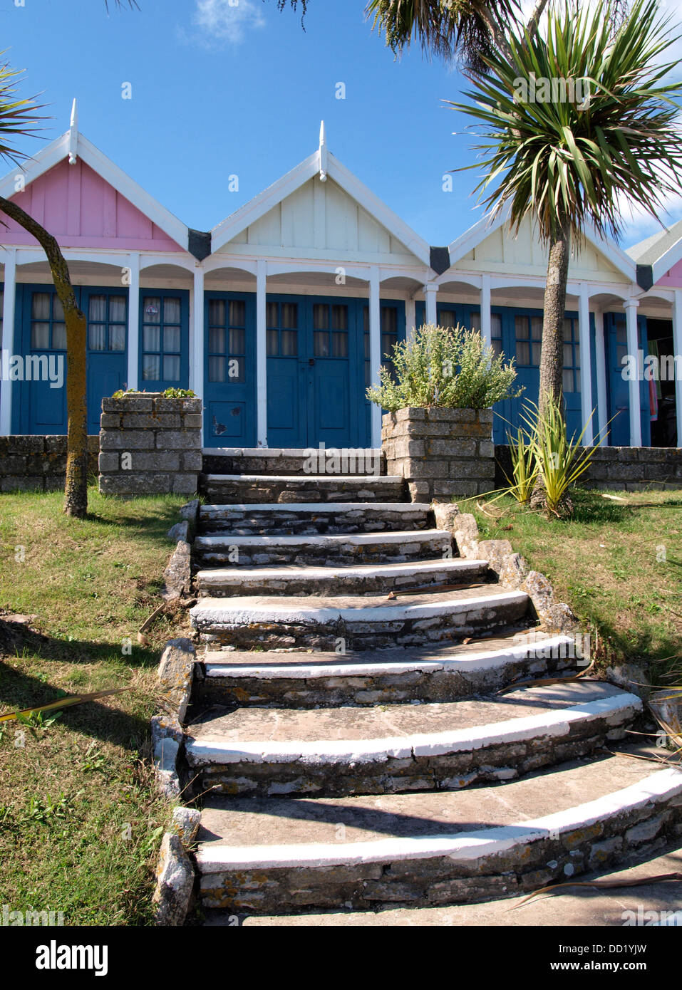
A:
MULTIPOLYGON (((0 52, 0 56, 4 52, 0 52)), ((0 65, 0 156, 18 164, 27 155, 14 145, 15 138, 36 134, 44 117, 34 97, 17 95, 16 77, 21 73, 7 63, 0 65)), ((82 519, 87 513, 87 413, 85 387, 86 321, 75 299, 68 266, 57 240, 17 203, 0 196, 0 211, 11 217, 45 250, 64 312, 66 326, 66 484, 64 512, 82 519)))

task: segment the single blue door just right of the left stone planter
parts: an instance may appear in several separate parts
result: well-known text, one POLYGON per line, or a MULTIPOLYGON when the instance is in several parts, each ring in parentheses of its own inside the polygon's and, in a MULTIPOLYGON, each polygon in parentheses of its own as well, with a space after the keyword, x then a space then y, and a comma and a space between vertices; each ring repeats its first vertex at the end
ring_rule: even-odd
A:
POLYGON ((256 445, 256 297, 204 294, 204 444, 256 445))

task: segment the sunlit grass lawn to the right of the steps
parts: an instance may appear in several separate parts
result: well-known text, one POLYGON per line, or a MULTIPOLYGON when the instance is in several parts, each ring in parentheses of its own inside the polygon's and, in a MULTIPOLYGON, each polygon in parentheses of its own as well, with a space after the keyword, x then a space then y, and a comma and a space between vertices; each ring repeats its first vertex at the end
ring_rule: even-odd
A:
POLYGON ((682 683, 682 488, 603 494, 578 489, 569 521, 507 496, 459 505, 484 540, 510 540, 586 628, 599 629, 598 658, 643 660, 655 683, 682 683))

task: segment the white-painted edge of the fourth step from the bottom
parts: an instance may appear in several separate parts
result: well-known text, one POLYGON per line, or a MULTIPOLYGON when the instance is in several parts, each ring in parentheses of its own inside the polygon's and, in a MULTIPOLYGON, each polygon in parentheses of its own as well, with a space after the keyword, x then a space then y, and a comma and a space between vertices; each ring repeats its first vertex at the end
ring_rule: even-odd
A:
MULTIPOLYGON (((491 585, 495 587, 495 585, 491 585)), ((263 596, 267 597, 267 596, 263 596)), ((284 598, 283 602, 287 599, 284 598)), ((498 591, 487 595, 471 595, 467 598, 449 598, 444 602, 423 602, 415 605, 369 605, 364 607, 330 608, 324 606, 276 605, 259 603, 259 597, 202 598, 190 609, 192 618, 215 625, 228 622, 248 624, 257 622, 334 623, 348 625, 365 623, 407 622, 431 619, 443 615, 457 615, 472 610, 496 609, 505 605, 521 605, 528 601, 524 591, 498 591)))

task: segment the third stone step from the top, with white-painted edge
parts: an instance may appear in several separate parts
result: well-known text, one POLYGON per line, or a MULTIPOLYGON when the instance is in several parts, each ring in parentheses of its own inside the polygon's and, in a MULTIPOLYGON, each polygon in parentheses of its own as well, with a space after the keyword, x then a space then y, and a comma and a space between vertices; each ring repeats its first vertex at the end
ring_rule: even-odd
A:
POLYGON ((411 502, 279 502, 202 505, 199 530, 218 536, 295 536, 339 533, 404 533, 426 530, 430 505, 411 502))

